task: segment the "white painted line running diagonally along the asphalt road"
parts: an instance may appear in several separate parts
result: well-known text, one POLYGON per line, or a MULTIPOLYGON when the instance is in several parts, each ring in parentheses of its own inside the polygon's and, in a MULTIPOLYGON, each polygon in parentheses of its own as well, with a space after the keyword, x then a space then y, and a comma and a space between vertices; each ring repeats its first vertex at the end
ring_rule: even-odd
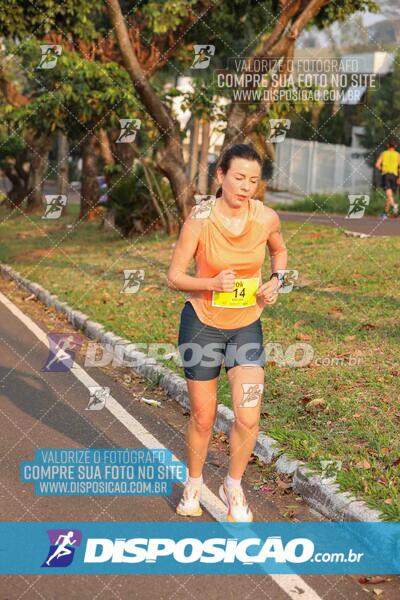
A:
MULTIPOLYGON (((11 300, 9 300, 4 294, 0 292, 0 302, 8 308, 8 310, 21 321, 47 348, 49 348, 48 337, 32 321, 30 317, 25 315, 11 300)), ((84 369, 76 362, 71 367, 71 373, 86 387, 98 386, 99 384, 90 375, 86 373, 84 369)), ((118 419, 124 427, 131 432, 131 434, 143 444, 146 448, 159 448, 165 449, 165 446, 161 444, 147 429, 139 423, 132 415, 115 398, 111 395, 107 397, 106 408, 110 413, 118 419)), ((174 460, 179 460, 173 455, 174 460)), ((201 504, 207 509, 211 516, 216 521, 226 522, 226 508, 224 503, 212 492, 205 484, 203 484, 201 491, 201 504)), ((293 600, 296 600, 299 595, 303 600, 321 600, 321 597, 299 576, 295 574, 290 575, 271 575, 266 573, 275 583, 293 600), (297 588, 297 590, 296 590, 297 588), (299 591, 299 588, 301 592, 299 591)))

